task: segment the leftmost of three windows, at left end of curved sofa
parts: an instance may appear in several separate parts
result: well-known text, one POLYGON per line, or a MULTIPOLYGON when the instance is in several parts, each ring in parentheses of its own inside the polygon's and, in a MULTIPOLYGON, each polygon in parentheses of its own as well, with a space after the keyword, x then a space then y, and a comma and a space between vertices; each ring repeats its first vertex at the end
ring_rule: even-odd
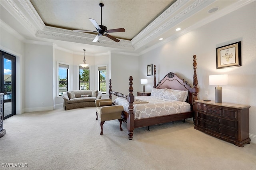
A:
POLYGON ((68 91, 69 65, 58 63, 58 96, 68 91))

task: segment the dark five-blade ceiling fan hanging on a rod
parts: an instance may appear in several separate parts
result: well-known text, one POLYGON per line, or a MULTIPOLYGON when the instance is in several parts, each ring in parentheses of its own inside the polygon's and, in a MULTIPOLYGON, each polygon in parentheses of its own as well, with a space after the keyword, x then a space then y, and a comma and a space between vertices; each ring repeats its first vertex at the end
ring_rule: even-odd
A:
POLYGON ((101 7, 101 25, 98 25, 94 19, 89 18, 90 22, 92 22, 92 24, 95 26, 97 31, 88 31, 88 30, 73 30, 73 31, 76 31, 76 32, 98 32, 98 35, 94 38, 94 40, 92 42, 97 42, 98 39, 100 38, 100 36, 106 36, 106 37, 110 38, 111 40, 114 40, 115 42, 120 42, 120 40, 118 40, 117 38, 114 38, 113 36, 110 36, 107 33, 125 32, 125 29, 117 28, 117 29, 108 30, 108 28, 106 26, 103 26, 102 25, 102 7, 104 6, 104 4, 100 3, 99 5, 101 7))

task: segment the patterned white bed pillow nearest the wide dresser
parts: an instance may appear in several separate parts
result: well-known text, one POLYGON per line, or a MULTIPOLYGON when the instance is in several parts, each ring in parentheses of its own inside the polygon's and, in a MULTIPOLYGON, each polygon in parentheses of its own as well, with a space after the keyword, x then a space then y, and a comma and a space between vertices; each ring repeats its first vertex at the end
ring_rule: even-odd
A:
POLYGON ((163 95, 163 98, 165 99, 171 99, 176 101, 186 101, 187 97, 188 90, 167 89, 163 95))

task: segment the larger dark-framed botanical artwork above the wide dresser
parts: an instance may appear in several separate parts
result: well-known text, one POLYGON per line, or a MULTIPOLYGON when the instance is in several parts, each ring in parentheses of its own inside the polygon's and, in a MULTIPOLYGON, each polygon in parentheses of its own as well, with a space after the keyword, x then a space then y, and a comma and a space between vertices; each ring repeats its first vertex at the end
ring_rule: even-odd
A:
POLYGON ((241 42, 216 48, 217 69, 242 66, 241 42))

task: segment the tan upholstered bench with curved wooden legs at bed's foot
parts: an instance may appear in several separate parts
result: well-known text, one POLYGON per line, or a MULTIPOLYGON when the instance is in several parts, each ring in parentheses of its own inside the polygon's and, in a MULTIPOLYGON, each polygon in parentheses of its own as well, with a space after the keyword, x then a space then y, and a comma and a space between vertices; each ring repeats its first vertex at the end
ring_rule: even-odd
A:
POLYGON ((122 131, 122 119, 121 114, 124 111, 124 107, 120 105, 112 105, 111 99, 96 99, 96 120, 98 120, 98 115, 100 117, 100 134, 103 134, 103 124, 105 121, 111 121, 118 119, 120 122, 120 130, 122 131))

